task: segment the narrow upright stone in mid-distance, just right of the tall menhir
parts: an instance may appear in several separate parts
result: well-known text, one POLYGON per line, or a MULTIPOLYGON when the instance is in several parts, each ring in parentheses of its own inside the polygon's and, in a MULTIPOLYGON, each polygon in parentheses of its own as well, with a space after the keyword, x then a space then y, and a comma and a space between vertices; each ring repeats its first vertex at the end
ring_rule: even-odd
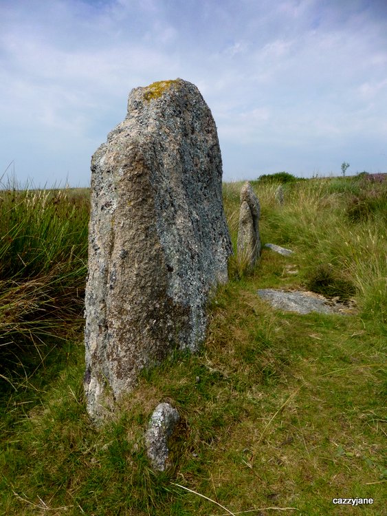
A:
POLYGON ((254 266, 261 254, 259 217, 261 207, 251 184, 247 181, 241 189, 241 209, 236 247, 238 255, 245 257, 249 266, 254 266))

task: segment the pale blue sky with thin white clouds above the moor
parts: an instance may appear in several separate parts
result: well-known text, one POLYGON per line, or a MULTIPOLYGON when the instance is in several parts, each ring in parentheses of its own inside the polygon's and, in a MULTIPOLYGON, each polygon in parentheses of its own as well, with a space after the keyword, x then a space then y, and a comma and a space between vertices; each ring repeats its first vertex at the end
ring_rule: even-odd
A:
POLYGON ((88 186, 133 87, 183 78, 223 180, 387 172, 386 0, 0 0, 0 178, 88 186))

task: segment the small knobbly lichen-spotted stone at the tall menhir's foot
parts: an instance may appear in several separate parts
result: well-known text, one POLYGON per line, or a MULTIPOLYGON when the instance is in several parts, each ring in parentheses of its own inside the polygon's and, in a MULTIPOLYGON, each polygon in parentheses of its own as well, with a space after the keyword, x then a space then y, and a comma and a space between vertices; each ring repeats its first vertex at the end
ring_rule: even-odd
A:
POLYGON ((146 453, 157 471, 166 469, 168 439, 179 421, 179 413, 169 403, 160 403, 151 416, 145 435, 146 453))

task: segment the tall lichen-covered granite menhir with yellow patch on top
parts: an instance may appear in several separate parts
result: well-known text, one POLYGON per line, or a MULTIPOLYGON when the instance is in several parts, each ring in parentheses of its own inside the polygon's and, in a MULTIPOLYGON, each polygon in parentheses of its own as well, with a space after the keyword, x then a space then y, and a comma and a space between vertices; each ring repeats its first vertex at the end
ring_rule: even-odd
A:
POLYGON ((91 160, 86 288, 87 410, 93 420, 172 350, 197 350, 212 288, 228 279, 217 128, 197 87, 131 91, 91 160))

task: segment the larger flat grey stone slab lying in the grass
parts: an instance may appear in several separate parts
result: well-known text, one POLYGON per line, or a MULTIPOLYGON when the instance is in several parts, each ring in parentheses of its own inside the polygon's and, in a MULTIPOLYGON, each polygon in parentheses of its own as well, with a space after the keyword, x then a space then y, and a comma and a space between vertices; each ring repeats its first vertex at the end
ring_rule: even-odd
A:
POLYGON ((318 312, 320 314, 348 314, 351 309, 342 303, 329 301, 324 296, 315 292, 287 292, 274 288, 258 290, 258 296, 274 307, 286 312, 297 312, 298 314, 309 314, 318 312), (332 303, 332 304, 330 304, 332 303))

